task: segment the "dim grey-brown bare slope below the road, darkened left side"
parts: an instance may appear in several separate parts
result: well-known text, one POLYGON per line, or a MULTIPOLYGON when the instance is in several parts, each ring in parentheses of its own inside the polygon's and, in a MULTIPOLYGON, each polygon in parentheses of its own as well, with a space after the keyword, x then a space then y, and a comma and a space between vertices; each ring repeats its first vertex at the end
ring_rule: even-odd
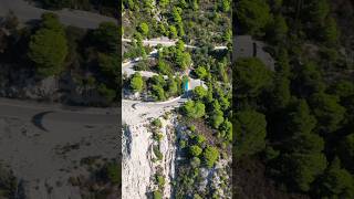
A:
POLYGON ((87 175, 85 157, 117 158, 115 125, 42 121, 40 129, 29 118, 0 117, 0 159, 24 182, 29 199, 80 199, 69 177, 87 175), (75 149, 65 150, 76 145, 75 149))

